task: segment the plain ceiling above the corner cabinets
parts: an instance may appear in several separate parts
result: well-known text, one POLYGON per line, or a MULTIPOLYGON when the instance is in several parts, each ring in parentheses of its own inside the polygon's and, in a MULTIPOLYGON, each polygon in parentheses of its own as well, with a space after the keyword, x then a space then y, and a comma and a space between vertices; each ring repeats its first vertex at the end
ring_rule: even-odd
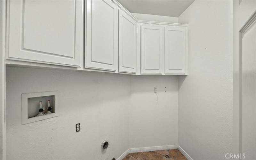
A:
POLYGON ((117 0, 129 12, 179 17, 195 0, 117 0))

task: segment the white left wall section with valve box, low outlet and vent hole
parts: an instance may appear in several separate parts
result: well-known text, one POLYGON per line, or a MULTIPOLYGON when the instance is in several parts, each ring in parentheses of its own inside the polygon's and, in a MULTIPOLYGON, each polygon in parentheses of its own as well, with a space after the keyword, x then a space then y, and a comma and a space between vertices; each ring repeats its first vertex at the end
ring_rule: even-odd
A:
POLYGON ((130 76, 15 67, 6 74, 8 160, 112 159, 128 149, 130 76), (59 91, 59 116, 21 125, 21 93, 43 91, 59 91))

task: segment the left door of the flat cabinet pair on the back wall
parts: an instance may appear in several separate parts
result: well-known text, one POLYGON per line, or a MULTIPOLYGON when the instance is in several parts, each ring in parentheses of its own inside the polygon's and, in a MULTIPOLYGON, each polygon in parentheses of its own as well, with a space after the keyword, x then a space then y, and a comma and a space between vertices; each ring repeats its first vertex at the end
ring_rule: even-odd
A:
POLYGON ((164 27, 141 26, 141 74, 162 74, 164 27))

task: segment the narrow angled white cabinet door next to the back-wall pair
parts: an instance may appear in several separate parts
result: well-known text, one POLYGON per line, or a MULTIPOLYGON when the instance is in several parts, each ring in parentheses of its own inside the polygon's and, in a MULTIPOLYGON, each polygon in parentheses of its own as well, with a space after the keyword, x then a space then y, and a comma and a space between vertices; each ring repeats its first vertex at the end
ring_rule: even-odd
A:
POLYGON ((137 71, 137 22, 119 10, 119 72, 137 71))

